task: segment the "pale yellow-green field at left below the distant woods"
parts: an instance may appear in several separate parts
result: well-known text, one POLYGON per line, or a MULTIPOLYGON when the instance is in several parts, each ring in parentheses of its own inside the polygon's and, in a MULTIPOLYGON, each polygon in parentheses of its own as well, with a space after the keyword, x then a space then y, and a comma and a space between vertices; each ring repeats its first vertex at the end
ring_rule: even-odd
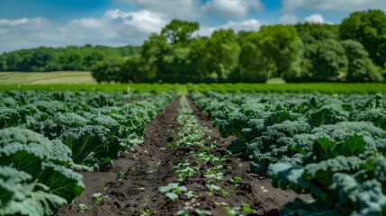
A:
POLYGON ((0 85, 96 84, 91 72, 0 72, 0 85))

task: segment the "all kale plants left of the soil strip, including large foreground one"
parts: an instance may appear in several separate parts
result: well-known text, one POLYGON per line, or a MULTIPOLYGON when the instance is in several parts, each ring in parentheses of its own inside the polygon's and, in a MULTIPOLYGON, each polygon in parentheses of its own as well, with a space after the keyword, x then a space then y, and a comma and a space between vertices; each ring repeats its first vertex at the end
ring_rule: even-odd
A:
POLYGON ((112 166, 174 98, 167 93, 122 103, 148 94, 98 94, 1 93, 0 215, 55 214, 85 189, 82 175, 69 166, 112 166))

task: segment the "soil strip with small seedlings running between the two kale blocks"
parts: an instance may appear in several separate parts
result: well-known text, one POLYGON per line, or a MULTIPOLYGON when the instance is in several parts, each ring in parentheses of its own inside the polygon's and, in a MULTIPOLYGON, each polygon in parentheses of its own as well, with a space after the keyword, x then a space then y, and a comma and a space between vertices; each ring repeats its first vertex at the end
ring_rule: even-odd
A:
POLYGON ((247 162, 226 153, 231 139, 221 139, 207 115, 193 106, 194 116, 180 100, 148 125, 143 144, 123 154, 112 170, 82 173, 91 186, 58 215, 76 214, 79 203, 89 207, 85 215, 230 215, 227 211, 244 213, 238 210, 243 204, 249 212, 253 210, 248 205, 256 213, 277 215, 286 202, 298 197, 272 187, 266 178, 247 173, 247 162), (215 174, 218 179, 211 179, 215 174), (210 191, 209 183, 221 189, 210 191), (95 192, 105 195, 103 204, 92 201, 95 192))

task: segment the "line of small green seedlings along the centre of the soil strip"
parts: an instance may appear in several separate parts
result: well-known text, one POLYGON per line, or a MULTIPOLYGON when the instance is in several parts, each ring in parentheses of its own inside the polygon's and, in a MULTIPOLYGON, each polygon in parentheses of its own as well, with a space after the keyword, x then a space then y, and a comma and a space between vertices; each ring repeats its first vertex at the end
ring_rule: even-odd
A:
MULTIPOLYGON (((178 130, 175 132, 176 141, 169 144, 168 147, 181 154, 182 162, 173 166, 178 180, 175 183, 159 187, 158 192, 164 193, 173 202, 181 198, 181 196, 186 201, 193 200, 193 198, 198 197, 198 194, 188 190, 188 185, 186 184, 189 184, 195 177, 202 177, 203 180, 199 182, 204 184, 207 193, 210 195, 215 194, 226 197, 229 193, 232 193, 232 190, 220 187, 220 182, 227 181, 225 174, 230 169, 228 166, 223 166, 227 156, 214 154, 217 146, 207 135, 210 130, 203 127, 197 120, 184 95, 180 99, 176 121, 179 125, 178 130)), ((234 187, 237 187, 241 178, 233 176, 228 180, 232 182, 234 187)), ((223 211, 229 215, 241 215, 242 213, 251 213, 254 210, 248 204, 242 204, 241 207, 224 206, 223 211)), ((192 203, 191 205, 185 204, 184 208, 180 209, 177 214, 189 215, 193 212, 197 215, 212 215, 211 211, 201 210, 192 203)))

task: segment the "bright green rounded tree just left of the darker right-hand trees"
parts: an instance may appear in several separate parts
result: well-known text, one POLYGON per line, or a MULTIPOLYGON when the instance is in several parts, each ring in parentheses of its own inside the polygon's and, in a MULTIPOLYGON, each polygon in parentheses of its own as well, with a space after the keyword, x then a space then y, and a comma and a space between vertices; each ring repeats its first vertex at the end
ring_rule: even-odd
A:
POLYGON ((240 55, 242 74, 252 73, 247 70, 255 69, 260 75, 266 73, 266 78, 283 76, 293 62, 301 59, 303 43, 293 26, 264 26, 258 32, 243 35, 240 55))

